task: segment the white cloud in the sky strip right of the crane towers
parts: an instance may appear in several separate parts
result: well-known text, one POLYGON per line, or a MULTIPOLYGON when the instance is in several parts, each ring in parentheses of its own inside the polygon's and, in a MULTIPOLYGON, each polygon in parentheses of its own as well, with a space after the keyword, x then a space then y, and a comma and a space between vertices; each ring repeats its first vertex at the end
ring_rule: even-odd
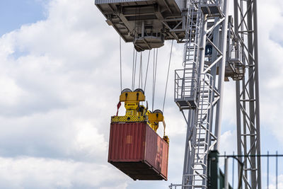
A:
MULTIPOLYGON (((271 130, 282 144, 282 88, 283 53, 282 34, 282 1, 260 1, 259 3, 259 49, 260 49, 260 115, 262 127, 271 130), (266 12, 267 11, 267 12, 266 12), (268 16, 266 16, 266 13, 268 16)), ((263 138, 264 139, 264 138, 263 138)))

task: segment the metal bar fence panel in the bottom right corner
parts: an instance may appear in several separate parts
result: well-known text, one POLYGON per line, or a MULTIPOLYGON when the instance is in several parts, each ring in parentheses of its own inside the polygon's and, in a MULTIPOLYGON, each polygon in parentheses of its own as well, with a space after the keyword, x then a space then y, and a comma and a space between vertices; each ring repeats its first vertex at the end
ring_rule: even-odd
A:
MULTIPOLYGON (((260 160, 260 185, 261 188, 266 189, 279 189, 283 188, 283 154, 267 154, 261 155, 219 155, 220 167, 224 170, 224 188, 253 188, 258 189, 259 181, 252 183, 248 181, 248 170, 256 168, 246 167, 245 161, 251 161, 251 159, 260 160)), ((258 175, 257 175, 258 177, 258 175)))

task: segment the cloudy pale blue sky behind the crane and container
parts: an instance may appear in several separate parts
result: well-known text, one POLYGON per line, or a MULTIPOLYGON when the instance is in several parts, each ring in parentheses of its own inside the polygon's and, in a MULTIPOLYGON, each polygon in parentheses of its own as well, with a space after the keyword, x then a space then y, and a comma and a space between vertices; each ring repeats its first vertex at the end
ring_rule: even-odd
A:
MULTIPOLYGON (((282 1, 258 1, 263 154, 283 154, 282 10, 282 1)), ((168 181, 132 181, 107 162, 110 116, 120 95, 119 36, 94 1, 1 0, 0 25, 0 188, 139 189, 181 182, 185 122, 173 102, 173 77, 182 67, 183 45, 173 45, 164 110, 168 181)), ((158 50, 159 109, 169 52, 170 42, 158 50)), ((122 68, 122 88, 130 88, 132 44, 125 42, 122 68)), ((151 101, 152 84, 146 85, 151 101)), ((236 151, 234 88, 225 83, 222 154, 236 151)))

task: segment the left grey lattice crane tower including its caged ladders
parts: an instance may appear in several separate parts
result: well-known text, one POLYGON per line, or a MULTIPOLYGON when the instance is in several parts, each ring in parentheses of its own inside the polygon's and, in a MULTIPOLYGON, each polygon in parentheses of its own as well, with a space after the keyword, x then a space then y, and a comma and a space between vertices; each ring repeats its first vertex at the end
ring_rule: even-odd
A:
MULTIPOLYGON (((226 67, 228 1, 188 1, 184 69, 175 102, 187 122, 182 188, 207 188, 207 156, 218 149, 226 67), (206 53, 206 47, 212 53, 206 53)), ((171 185, 171 188, 178 185, 171 185)))

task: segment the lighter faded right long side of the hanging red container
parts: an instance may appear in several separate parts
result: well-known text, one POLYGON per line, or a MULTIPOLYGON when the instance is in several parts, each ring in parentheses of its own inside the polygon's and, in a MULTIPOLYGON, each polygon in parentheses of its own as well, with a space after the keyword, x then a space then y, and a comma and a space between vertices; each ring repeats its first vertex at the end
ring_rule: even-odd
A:
POLYGON ((149 162, 156 172, 167 181, 168 172, 168 144, 159 135, 146 127, 145 161, 149 162))

